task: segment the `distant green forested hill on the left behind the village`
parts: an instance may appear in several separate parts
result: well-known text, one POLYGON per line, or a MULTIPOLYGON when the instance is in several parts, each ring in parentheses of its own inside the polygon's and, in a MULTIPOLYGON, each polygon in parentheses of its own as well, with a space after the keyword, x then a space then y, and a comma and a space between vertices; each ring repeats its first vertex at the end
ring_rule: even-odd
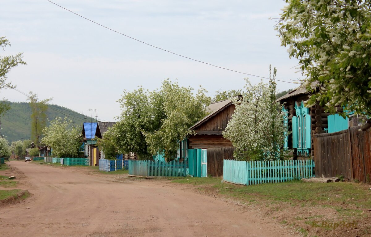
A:
MULTIPOLYGON (((9 144, 12 143, 12 141, 30 139, 32 112, 29 103, 10 102, 9 104, 12 108, 0 118, 1 135, 9 141, 9 144)), ((80 128, 82 128, 82 123, 85 121, 84 118, 86 117, 81 113, 59 105, 50 105, 46 113, 49 120, 53 120, 55 117, 67 117, 75 122, 75 126, 80 128)), ((86 122, 90 122, 90 117, 86 118, 86 122)), ((49 123, 47 122, 46 126, 48 125, 49 123)))

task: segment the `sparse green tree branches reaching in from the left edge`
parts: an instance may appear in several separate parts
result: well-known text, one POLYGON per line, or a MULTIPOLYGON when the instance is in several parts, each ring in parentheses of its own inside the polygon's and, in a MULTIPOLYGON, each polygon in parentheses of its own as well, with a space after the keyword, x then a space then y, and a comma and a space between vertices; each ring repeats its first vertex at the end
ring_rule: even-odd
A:
MULTIPOLYGON (((0 37, 0 48, 5 50, 6 46, 10 46, 9 40, 7 40, 4 36, 0 37)), ((17 55, 10 55, 10 56, 0 56, 0 89, 3 88, 14 88, 11 82, 6 82, 7 74, 10 70, 19 64, 26 65, 27 63, 22 60, 22 53, 18 53, 17 55)), ((0 102, 0 116, 4 115, 6 111, 10 109, 9 104, 6 101, 0 102)))

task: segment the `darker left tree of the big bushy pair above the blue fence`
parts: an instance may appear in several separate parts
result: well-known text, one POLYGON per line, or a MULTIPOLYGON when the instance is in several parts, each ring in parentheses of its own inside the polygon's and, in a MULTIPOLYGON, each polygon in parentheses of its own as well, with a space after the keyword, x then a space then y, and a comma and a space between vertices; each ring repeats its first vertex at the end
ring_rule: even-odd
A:
MULTIPOLYGON (((154 90, 150 92, 139 87, 132 92, 124 91, 118 100, 121 105, 120 121, 104 134, 102 144, 114 144, 119 153, 135 152, 140 159, 150 159, 144 133, 160 128, 165 118, 163 95, 154 90)), ((112 149, 113 150, 113 149, 112 149)))

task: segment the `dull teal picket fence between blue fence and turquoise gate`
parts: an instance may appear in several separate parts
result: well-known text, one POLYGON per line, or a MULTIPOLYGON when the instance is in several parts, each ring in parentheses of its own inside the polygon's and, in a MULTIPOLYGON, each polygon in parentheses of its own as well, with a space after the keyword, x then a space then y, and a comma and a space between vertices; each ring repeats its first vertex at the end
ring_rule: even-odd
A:
POLYGON ((142 177, 185 177, 187 162, 129 160, 129 175, 142 177))

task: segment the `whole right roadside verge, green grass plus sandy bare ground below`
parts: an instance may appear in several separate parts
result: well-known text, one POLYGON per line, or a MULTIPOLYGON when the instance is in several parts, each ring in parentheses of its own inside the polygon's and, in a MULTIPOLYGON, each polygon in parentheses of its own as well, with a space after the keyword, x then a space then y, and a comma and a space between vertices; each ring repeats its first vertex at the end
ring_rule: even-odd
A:
POLYGON ((222 195, 259 206, 267 217, 292 227, 303 236, 367 236, 371 233, 371 186, 350 182, 311 183, 299 180, 259 185, 235 185, 220 178, 167 177, 173 183, 196 186, 204 193, 222 195), (321 223, 357 222, 357 229, 319 228, 321 223), (349 234, 350 232, 350 234, 349 234))

